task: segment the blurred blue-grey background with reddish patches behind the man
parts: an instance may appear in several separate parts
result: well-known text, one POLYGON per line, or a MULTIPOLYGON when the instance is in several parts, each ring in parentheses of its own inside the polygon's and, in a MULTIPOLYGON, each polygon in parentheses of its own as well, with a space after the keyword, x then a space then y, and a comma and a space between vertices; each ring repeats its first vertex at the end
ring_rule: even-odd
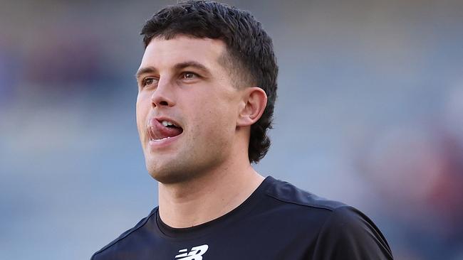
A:
MULTIPOLYGON (((0 259, 89 259, 157 205, 135 126, 142 24, 175 1, 0 0, 0 259)), ((463 259, 463 1, 227 1, 274 39, 256 166, 463 259)))

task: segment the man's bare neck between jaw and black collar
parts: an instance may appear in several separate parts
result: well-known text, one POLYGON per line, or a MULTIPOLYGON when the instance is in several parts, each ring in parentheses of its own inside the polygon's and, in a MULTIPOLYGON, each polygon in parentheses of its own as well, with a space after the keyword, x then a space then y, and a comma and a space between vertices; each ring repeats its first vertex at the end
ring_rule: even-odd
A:
POLYGON ((247 162, 229 163, 187 183, 159 183, 159 212, 170 227, 193 227, 227 214, 262 183, 247 162))

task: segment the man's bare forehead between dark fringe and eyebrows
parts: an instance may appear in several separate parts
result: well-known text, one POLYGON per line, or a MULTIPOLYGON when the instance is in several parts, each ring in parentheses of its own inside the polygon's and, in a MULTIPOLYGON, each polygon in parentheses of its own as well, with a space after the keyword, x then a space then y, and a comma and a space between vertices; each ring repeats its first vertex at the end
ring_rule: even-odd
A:
POLYGON ((219 65, 219 58, 224 51, 225 43, 217 39, 187 36, 169 40, 153 38, 145 49, 140 68, 154 66, 162 69, 185 61, 195 61, 213 70, 219 65))

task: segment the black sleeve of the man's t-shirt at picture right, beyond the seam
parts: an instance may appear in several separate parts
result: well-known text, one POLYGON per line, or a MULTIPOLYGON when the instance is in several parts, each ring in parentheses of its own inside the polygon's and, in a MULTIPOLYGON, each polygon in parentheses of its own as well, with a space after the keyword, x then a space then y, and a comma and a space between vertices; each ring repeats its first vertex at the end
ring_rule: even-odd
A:
POLYGON ((318 234, 313 260, 392 260, 378 227, 354 207, 338 207, 318 234))

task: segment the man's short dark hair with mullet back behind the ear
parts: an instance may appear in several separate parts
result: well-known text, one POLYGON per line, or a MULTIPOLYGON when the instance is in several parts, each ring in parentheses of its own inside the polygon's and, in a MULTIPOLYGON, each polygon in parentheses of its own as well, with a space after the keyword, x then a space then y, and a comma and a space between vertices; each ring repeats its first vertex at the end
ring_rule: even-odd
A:
POLYGON ((145 48, 152 38, 184 35, 223 40, 227 53, 222 64, 240 84, 261 87, 267 95, 262 117, 251 126, 249 161, 257 163, 270 147, 278 66, 271 38, 248 11, 214 1, 186 1, 155 13, 142 28, 145 48))

